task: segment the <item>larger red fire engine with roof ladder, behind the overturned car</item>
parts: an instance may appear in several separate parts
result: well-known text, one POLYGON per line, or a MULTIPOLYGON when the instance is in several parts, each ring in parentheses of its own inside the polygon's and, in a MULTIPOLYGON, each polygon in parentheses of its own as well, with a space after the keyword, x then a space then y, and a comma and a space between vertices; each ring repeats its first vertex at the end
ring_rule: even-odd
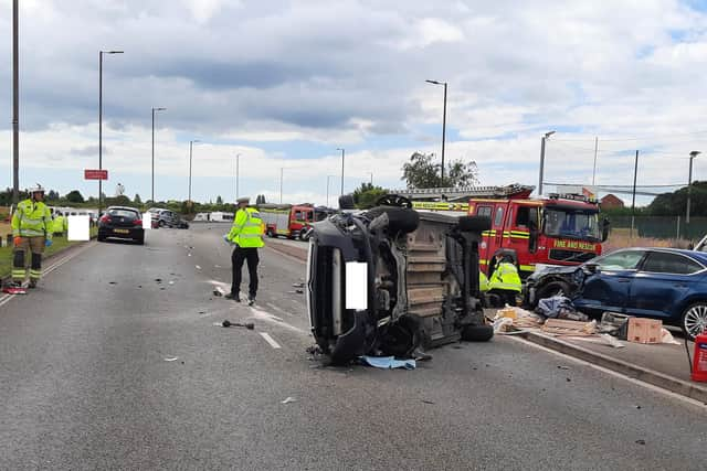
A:
POLYGON ((419 211, 452 211, 487 216, 492 228, 483 233, 479 266, 494 270, 494 255, 511 251, 521 277, 542 265, 578 265, 601 255, 609 222, 600 221, 599 203, 584 195, 550 194, 530 197, 534 186, 467 186, 397 192, 413 200, 419 211), (426 200, 426 201, 424 201, 426 200))

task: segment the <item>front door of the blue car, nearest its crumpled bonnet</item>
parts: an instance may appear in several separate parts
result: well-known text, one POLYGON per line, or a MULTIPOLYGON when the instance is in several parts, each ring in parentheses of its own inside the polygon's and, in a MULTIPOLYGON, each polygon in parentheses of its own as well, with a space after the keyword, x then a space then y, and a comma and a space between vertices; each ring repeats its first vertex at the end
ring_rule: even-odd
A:
POLYGON ((645 250, 618 250, 592 261, 595 272, 583 282, 581 295, 574 306, 587 311, 624 312, 627 306, 631 282, 645 250))

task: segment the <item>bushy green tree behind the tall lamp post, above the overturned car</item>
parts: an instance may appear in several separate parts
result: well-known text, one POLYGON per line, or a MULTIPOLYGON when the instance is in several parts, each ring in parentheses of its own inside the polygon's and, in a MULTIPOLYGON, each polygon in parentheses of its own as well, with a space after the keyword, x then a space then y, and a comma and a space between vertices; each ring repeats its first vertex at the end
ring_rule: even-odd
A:
POLYGON ((425 189, 439 186, 466 186, 478 183, 478 169, 476 162, 462 159, 450 161, 445 169, 444 182, 442 181, 442 165, 435 163, 434 153, 415 152, 410 161, 402 165, 402 179, 411 189, 425 189))

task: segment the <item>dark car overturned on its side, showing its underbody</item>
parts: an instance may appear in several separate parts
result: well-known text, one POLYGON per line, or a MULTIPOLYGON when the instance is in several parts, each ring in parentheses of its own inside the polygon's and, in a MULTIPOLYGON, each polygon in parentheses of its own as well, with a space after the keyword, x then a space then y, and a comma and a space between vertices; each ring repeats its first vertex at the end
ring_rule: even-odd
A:
POLYGON ((489 227, 488 217, 419 213, 394 195, 316 223, 306 283, 321 351, 345 363, 489 340, 478 292, 478 245, 489 227))

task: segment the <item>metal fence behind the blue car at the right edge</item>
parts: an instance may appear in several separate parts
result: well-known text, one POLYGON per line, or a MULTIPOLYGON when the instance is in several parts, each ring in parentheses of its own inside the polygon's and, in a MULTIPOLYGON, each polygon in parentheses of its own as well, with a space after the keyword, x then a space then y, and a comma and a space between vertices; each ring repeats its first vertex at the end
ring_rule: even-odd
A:
POLYGON ((629 231, 639 237, 699 240, 707 234, 707 217, 685 216, 612 216, 611 229, 629 231))

